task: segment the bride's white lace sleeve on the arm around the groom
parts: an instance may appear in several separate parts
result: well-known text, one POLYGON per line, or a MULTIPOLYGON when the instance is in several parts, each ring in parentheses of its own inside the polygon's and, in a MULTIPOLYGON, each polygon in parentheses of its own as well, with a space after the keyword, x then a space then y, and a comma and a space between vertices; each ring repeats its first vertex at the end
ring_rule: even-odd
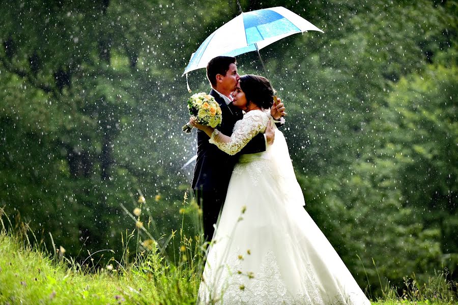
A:
POLYGON ((212 133, 210 143, 229 155, 237 154, 257 134, 266 130, 269 117, 262 111, 252 110, 235 125, 230 137, 223 135, 217 129, 212 133), (253 112, 253 113, 251 113, 253 112))

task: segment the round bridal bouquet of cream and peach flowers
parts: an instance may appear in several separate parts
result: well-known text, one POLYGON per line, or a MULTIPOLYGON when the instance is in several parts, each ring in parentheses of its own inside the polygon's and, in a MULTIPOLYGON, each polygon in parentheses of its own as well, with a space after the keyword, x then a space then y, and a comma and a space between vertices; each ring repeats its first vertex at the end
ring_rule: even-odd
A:
MULTIPOLYGON (((196 118, 197 123, 213 128, 221 124, 221 108, 215 99, 204 92, 196 93, 188 99, 189 114, 196 118)), ((193 126, 183 126, 185 133, 191 133, 193 126)))

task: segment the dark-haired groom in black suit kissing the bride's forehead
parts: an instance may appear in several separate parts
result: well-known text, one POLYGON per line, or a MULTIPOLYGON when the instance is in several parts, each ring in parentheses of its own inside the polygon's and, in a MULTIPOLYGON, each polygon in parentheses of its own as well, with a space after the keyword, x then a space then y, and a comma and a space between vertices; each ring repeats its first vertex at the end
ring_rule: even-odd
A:
MULTIPOLYGON (((218 130, 225 135, 231 135, 236 121, 243 118, 242 110, 232 105, 231 93, 234 92, 240 75, 237 73, 235 57, 218 56, 207 65, 207 77, 212 86, 210 95, 221 107, 222 123, 218 130)), ((272 106, 271 114, 275 119, 284 113, 284 107, 278 99, 278 105, 272 106)), ((282 123, 280 123, 282 124, 282 123)), ((268 144, 274 141, 274 131, 269 125, 264 134, 256 135, 240 151, 239 154, 254 154, 265 151, 268 144)), ((197 161, 192 179, 194 196, 202 208, 204 235, 210 241, 214 227, 224 203, 229 180, 238 160, 237 155, 230 156, 219 150, 216 145, 209 143, 205 132, 197 131, 197 161)))

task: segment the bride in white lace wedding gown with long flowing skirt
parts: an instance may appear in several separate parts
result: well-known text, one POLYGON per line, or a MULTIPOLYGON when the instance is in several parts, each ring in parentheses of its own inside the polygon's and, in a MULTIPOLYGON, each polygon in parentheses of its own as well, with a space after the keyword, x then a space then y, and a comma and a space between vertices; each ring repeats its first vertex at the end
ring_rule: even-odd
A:
MULTIPOLYGON (((273 120, 266 78, 242 76, 233 96, 246 114, 230 137, 191 118, 210 143, 230 155, 273 120)), ((234 168, 197 303, 369 305, 303 206, 287 143, 275 128, 275 141, 266 151, 241 155, 234 168)))

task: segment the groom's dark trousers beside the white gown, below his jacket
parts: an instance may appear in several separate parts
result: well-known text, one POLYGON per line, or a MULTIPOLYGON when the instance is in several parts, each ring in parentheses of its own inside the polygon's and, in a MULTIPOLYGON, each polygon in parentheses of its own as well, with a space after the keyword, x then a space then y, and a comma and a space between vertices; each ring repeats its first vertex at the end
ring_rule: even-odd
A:
POLYGON ((201 191, 194 190, 195 201, 202 209, 202 218, 204 225, 204 237, 207 241, 213 238, 214 225, 218 221, 219 212, 221 211, 225 191, 201 191))

